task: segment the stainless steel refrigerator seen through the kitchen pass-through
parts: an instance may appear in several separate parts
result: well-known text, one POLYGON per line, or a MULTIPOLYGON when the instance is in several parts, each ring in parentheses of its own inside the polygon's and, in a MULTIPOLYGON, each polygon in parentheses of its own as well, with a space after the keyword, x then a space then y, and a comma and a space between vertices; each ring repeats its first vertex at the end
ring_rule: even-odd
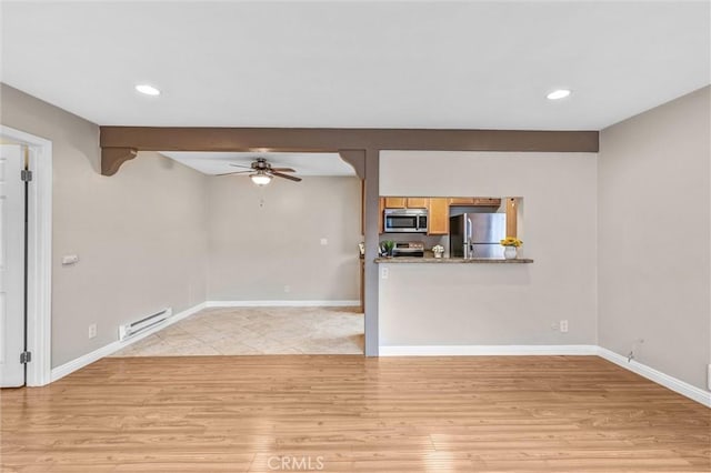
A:
POLYGON ((452 258, 503 258, 500 241, 505 236, 505 213, 462 213, 449 219, 452 258))

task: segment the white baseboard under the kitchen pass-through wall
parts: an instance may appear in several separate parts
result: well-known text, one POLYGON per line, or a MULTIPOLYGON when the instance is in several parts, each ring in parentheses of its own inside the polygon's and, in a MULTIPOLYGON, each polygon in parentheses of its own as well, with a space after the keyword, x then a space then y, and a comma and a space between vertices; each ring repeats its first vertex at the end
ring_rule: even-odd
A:
POLYGON ((597 345, 402 345, 380 346, 380 356, 595 355, 597 345))

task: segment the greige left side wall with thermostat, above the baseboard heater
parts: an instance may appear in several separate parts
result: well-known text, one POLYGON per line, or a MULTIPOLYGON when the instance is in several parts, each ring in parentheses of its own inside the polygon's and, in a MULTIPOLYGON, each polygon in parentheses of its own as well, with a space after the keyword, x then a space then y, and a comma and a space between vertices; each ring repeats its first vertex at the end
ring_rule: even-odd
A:
POLYGON ((102 177, 99 127, 0 87, 0 122, 52 141, 52 366, 118 340, 123 322, 204 301, 206 178, 157 153, 102 177))

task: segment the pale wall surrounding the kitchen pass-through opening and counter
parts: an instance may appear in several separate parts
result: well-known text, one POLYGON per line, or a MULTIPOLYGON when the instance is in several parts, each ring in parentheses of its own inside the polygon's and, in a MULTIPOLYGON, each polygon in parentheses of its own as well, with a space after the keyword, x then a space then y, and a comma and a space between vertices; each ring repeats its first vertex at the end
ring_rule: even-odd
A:
POLYGON ((519 195, 532 264, 389 264, 380 344, 595 344, 594 153, 383 151, 383 195, 519 195), (450 171, 454 170, 454 171, 450 171), (570 331, 551 330, 568 320, 570 331))

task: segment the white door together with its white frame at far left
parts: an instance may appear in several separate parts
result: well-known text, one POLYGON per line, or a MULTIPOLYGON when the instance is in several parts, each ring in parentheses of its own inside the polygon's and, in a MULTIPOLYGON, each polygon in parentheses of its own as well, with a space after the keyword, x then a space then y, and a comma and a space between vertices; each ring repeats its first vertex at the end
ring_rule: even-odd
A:
POLYGON ((0 125, 0 384, 41 386, 51 371, 52 143, 0 125))

